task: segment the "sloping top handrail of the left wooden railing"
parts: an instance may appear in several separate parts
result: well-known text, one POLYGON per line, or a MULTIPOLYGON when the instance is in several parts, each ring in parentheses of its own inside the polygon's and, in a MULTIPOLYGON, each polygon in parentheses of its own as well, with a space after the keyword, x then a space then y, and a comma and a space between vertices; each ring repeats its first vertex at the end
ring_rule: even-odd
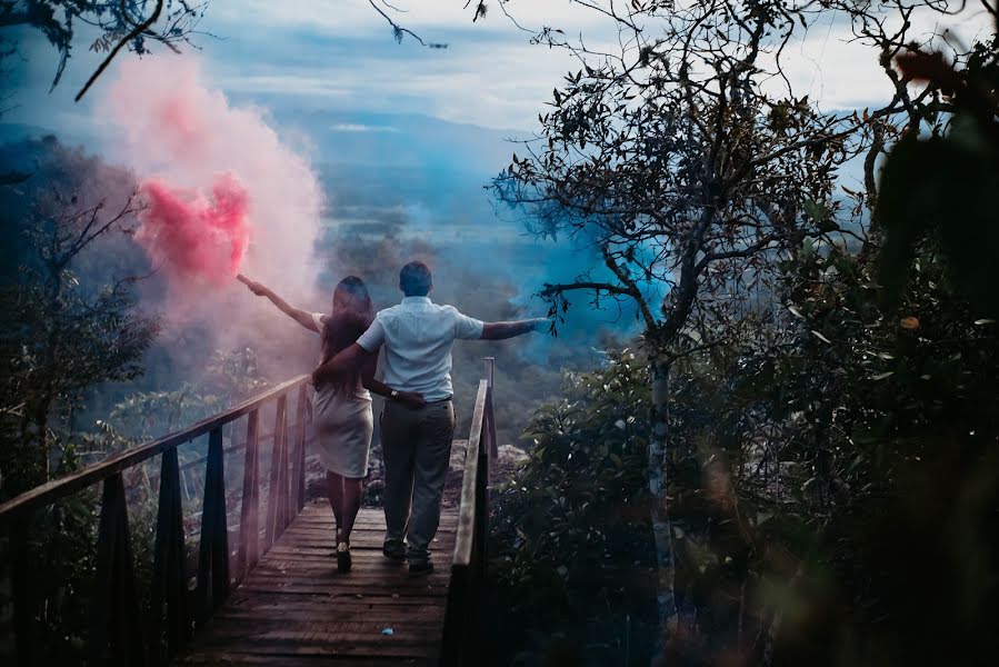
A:
POLYGON ((238 406, 229 408, 224 412, 196 421, 183 430, 163 436, 158 440, 153 440, 152 442, 148 442, 133 449, 126 449, 120 454, 110 456, 99 464, 88 466, 72 475, 67 475, 66 477, 60 477, 59 479, 53 479, 52 481, 37 486, 30 491, 26 491, 0 505, 0 524, 10 520, 21 512, 51 505, 59 498, 74 494, 98 481, 103 481, 116 472, 134 467, 162 454, 167 449, 184 445, 198 436, 203 436, 216 427, 234 421, 268 400, 287 394, 299 385, 303 385, 308 379, 309 376, 299 376, 292 380, 278 385, 264 394, 247 399, 238 406))

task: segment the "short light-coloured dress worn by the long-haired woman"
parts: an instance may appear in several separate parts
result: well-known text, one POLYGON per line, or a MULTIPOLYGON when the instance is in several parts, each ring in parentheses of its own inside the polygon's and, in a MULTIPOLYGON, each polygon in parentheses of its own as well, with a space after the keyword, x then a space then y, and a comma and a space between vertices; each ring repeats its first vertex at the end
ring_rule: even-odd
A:
MULTIPOLYGON (((312 321, 323 329, 322 313, 313 312, 312 321)), ((343 477, 368 475, 368 450, 374 418, 371 414, 371 394, 361 386, 339 395, 334 386, 327 384, 312 392, 312 431, 319 446, 322 467, 343 477)))

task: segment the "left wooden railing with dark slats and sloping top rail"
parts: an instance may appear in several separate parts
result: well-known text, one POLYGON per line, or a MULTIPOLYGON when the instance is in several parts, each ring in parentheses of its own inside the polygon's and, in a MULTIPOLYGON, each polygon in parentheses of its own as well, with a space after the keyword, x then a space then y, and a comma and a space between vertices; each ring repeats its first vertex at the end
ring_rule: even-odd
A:
POLYGON ((228 597, 230 586, 242 581, 258 559, 281 536, 306 500, 306 424, 311 419, 306 396, 308 376, 289 380, 270 391, 219 415, 201 420, 141 447, 128 449, 79 472, 50 481, 0 505, 0 527, 8 531, 11 554, 10 591, 17 664, 37 664, 36 605, 29 567, 29 537, 36 512, 82 489, 102 482, 97 538, 94 599, 88 608, 89 664, 161 664, 190 638, 192 621, 203 624, 228 597), (298 394, 296 417, 288 424, 288 395, 298 394), (258 440, 260 410, 274 401, 273 447, 264 524, 260 526, 260 466, 258 440), (239 545, 230 568, 226 511, 222 428, 247 417, 239 545), (288 434, 291 431, 291 442, 288 434), (204 497, 198 552, 197 588, 188 595, 186 547, 181 507, 180 466, 177 449, 208 435, 204 457, 204 497), (123 474, 159 456, 159 499, 149 606, 140 609, 132 571, 127 496, 123 474), (293 458, 292 458, 293 457, 293 458), (289 472, 289 468, 291 468, 289 472), (290 479, 289 479, 290 475, 290 479), (261 545, 261 534, 263 544, 261 545), (233 571, 234 570, 234 571, 233 571), (193 609, 191 609, 193 605, 193 609))

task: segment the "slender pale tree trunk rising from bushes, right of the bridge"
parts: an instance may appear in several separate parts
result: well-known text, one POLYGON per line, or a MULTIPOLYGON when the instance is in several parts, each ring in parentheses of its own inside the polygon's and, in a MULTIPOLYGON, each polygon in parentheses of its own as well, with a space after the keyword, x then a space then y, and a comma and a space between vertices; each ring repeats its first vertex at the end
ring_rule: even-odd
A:
POLYGON ((659 565, 657 607, 660 634, 652 664, 660 664, 666 644, 677 626, 677 600, 673 589, 675 552, 672 530, 668 514, 667 452, 669 451, 669 372, 670 364, 653 357, 650 362, 652 380, 652 407, 649 434, 649 491, 652 496, 652 536, 659 565))

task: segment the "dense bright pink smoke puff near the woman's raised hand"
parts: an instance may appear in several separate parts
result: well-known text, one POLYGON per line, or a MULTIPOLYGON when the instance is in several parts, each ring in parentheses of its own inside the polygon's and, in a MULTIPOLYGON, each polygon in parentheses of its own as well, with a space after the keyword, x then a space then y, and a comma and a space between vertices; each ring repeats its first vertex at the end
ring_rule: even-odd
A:
POLYGON ((136 240, 174 280, 224 286, 250 243, 249 193, 232 173, 216 177, 211 197, 161 178, 140 188, 147 208, 136 240))

